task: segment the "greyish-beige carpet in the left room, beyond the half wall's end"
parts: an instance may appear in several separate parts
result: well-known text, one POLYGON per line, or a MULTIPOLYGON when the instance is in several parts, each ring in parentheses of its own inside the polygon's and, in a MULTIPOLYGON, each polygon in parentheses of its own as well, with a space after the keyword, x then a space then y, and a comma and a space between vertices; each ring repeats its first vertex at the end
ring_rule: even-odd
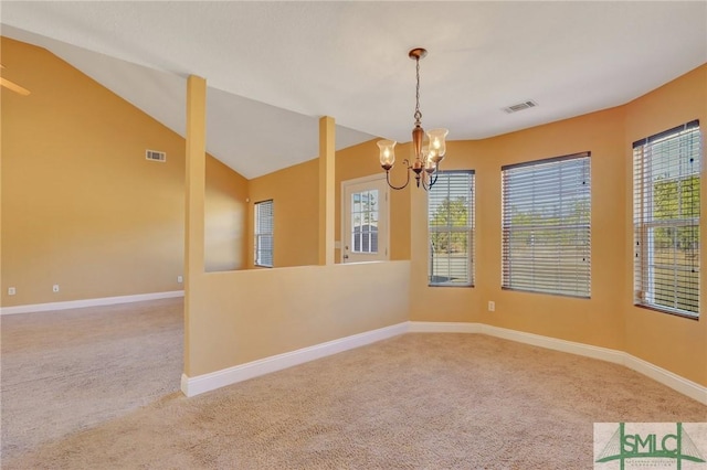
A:
POLYGON ((179 391, 182 299, 3 316, 0 330, 2 462, 179 391))

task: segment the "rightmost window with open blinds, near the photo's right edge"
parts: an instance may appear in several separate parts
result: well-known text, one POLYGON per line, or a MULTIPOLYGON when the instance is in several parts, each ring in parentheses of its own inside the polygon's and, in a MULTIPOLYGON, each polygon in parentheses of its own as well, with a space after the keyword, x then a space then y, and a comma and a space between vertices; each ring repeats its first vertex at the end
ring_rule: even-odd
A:
POLYGON ((633 143, 634 303, 699 316, 699 121, 633 143))

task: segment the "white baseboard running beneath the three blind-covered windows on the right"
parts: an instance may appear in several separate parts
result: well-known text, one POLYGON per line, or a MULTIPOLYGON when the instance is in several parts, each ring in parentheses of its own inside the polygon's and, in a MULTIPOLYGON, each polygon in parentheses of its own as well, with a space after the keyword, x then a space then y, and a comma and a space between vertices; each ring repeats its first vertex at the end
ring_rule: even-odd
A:
POLYGON ((542 337, 523 331, 508 330, 483 323, 439 323, 439 322, 410 322, 410 332, 424 333, 482 333, 504 340, 516 341, 534 346, 546 348, 555 351, 583 355, 624 365, 656 382, 666 385, 697 402, 707 405, 707 387, 671 371, 651 364, 647 361, 635 357, 626 352, 608 348, 593 346, 591 344, 577 343, 557 338, 542 337))

